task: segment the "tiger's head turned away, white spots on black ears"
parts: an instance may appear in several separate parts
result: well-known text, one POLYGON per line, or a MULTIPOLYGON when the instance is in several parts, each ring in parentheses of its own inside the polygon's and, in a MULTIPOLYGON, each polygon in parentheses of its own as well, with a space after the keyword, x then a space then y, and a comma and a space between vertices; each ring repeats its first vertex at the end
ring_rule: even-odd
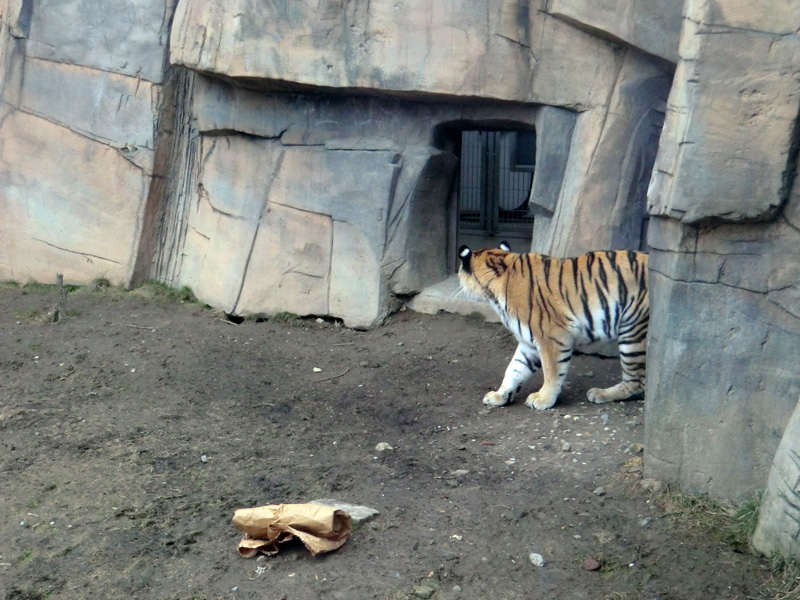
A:
POLYGON ((475 300, 491 302, 502 297, 508 268, 517 256, 511 252, 506 242, 501 242, 499 248, 475 252, 467 246, 461 246, 458 250, 458 257, 461 259, 458 268, 461 289, 475 300))

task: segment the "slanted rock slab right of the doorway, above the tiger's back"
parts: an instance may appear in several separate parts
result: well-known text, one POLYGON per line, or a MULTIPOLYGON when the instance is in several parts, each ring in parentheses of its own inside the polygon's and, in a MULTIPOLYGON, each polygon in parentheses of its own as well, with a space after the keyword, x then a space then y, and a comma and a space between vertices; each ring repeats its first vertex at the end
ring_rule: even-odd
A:
POLYGON ((560 193, 534 222, 534 251, 644 247, 646 190, 669 86, 669 74, 647 57, 623 54, 609 103, 577 116, 560 193))

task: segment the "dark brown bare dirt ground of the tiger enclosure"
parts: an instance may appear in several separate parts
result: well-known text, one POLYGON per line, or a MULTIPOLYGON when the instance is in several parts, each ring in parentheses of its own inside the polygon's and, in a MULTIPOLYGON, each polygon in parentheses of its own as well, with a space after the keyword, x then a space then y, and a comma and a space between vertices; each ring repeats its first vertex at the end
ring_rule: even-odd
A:
POLYGON ((636 485, 643 403, 585 401, 616 360, 576 357, 554 409, 487 410, 514 342, 477 319, 234 324, 107 288, 47 322, 56 299, 0 288, 0 598, 744 599, 768 578, 636 485), (330 554, 238 555, 235 509, 318 498, 380 514, 330 554))

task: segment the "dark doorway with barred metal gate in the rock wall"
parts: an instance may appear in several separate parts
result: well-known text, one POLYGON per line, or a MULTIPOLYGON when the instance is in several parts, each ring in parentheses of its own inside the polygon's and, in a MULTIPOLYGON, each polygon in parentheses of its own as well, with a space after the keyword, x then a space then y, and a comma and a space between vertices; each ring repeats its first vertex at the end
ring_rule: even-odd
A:
POLYGON ((478 249, 507 240, 516 251, 529 251, 536 132, 465 129, 460 145, 457 246, 478 249))

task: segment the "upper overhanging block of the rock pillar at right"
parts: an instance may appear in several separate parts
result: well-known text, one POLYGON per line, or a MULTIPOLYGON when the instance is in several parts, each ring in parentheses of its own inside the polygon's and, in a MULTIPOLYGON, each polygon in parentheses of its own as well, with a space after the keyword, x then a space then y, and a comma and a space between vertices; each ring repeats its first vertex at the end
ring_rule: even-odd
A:
POLYGON ((659 152, 650 213, 684 223, 771 220, 787 200, 797 120, 797 82, 786 69, 800 61, 800 37, 783 34, 798 24, 796 9, 776 6, 781 21, 760 7, 690 0, 686 12, 664 125, 671 143, 659 152))

